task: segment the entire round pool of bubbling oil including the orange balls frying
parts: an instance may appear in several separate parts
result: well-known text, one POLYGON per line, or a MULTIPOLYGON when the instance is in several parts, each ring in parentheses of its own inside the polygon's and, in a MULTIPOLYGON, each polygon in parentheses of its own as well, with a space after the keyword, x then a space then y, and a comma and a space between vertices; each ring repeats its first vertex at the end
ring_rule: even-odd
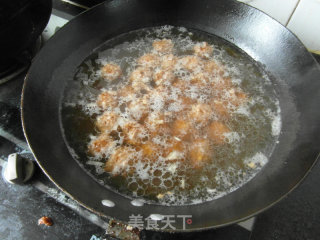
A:
POLYGON ((247 55, 171 26, 100 47, 62 113, 70 151, 92 176, 170 205, 239 188, 268 162, 281 128, 271 81, 247 55))

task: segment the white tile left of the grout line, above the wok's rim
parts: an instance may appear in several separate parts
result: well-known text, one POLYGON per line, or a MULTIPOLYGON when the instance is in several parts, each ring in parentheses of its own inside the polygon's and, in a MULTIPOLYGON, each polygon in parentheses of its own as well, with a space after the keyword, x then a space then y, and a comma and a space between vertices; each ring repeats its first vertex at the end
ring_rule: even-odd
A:
POLYGON ((240 0, 286 25, 299 0, 240 0))

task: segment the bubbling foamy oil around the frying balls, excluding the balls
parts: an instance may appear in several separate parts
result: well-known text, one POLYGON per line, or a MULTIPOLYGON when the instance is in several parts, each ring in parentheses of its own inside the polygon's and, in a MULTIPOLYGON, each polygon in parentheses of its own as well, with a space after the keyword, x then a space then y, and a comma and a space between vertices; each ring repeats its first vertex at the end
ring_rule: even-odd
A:
MULTIPOLYGON (((217 74, 208 82, 214 82, 217 74)), ((65 96, 62 109, 65 137, 70 151, 83 168, 120 194, 144 197, 146 201, 164 205, 210 201, 239 188, 268 162, 281 129, 279 102, 267 74, 234 46, 214 36, 185 28, 163 26, 142 29, 108 41, 79 66, 65 96), (178 58, 192 55, 197 43, 208 42, 214 49, 210 58, 223 66, 223 77, 231 80, 233 89, 246 94, 246 101, 237 107, 230 104, 232 91, 225 91, 222 97, 219 96, 218 102, 223 103, 230 116, 221 119, 221 114, 212 112, 207 116, 207 121, 223 122, 229 130, 223 133, 222 144, 209 143, 205 151, 210 152, 210 159, 201 167, 189 164, 189 155, 185 152, 197 144, 195 139, 209 141, 208 129, 184 111, 192 111, 195 104, 212 104, 218 99, 218 92, 212 91, 208 85, 190 84, 190 72, 184 68, 176 67, 174 75, 188 84, 178 87, 172 82, 164 84, 164 91, 150 86, 149 94, 128 91, 117 98, 116 106, 107 106, 103 111, 97 106, 96 100, 101 92, 119 93, 126 90, 130 85, 128 76, 137 68, 137 59, 152 52, 152 43, 157 39, 172 40, 173 54, 178 58), (101 74, 101 68, 110 62, 119 65, 122 70, 122 76, 115 81, 106 81, 101 74), (131 163, 107 173, 105 162, 125 144, 121 126, 140 117, 142 110, 139 104, 143 98, 148 98, 145 100, 150 107, 150 121, 149 125, 144 122, 142 126, 147 125, 150 131, 146 131, 142 139, 160 147, 152 152, 150 158, 143 156, 139 147, 130 148, 134 149, 128 153, 132 155, 131 163), (191 103, 181 101, 185 98, 191 99, 191 103), (129 109, 128 105, 132 102, 134 107, 129 109), (116 136, 114 144, 104 152, 90 156, 88 144, 101 135, 95 122, 105 111, 120 116, 114 129, 107 130, 116 136), (157 129, 155 123, 159 112, 169 115, 165 118, 165 123, 171 126, 169 132, 157 129), (190 122, 194 126, 191 139, 182 140, 173 133, 175 120, 190 122), (158 134, 154 134, 157 131, 158 134), (172 141, 185 142, 185 151, 165 156, 163 153, 172 147, 172 141), (180 161, 170 161, 177 158, 177 154, 182 154, 180 161)), ((206 118, 206 112, 201 114, 206 118)))

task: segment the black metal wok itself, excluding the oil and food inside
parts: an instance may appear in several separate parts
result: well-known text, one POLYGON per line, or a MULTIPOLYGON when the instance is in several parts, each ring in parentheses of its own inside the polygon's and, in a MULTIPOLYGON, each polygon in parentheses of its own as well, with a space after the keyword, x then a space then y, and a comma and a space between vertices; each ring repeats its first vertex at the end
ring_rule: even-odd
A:
MULTIPOLYGON (((244 220, 283 198, 304 178, 320 149, 320 69, 302 43, 262 12, 232 0, 114 0, 71 20, 45 45, 25 80, 22 120, 39 165, 64 192, 93 212, 127 222, 141 214, 192 215, 188 230, 244 220), (72 158, 61 128, 61 101, 76 68, 106 40, 135 29, 184 26, 221 37, 274 77, 282 130, 268 164, 248 183, 219 199, 189 206, 131 205, 100 185, 72 158), (115 207, 106 207, 108 199, 115 207)), ((182 222, 177 222, 177 230, 182 222)))

